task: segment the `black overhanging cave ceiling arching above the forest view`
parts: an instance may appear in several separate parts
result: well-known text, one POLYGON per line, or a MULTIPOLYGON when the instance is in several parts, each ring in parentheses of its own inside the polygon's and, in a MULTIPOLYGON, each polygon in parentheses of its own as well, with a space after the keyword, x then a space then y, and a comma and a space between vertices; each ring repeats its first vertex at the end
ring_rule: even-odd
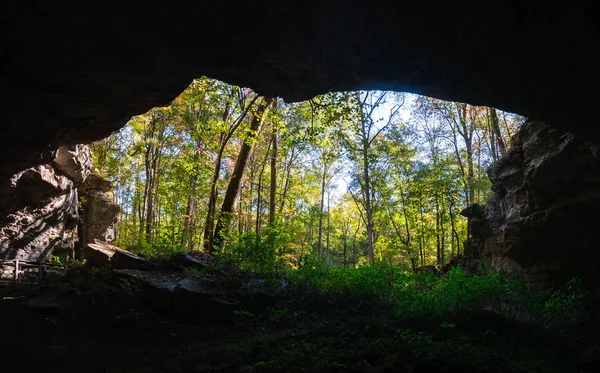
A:
POLYGON ((127 4, 2 2, 6 176, 61 145, 106 137, 203 75, 288 101, 415 92, 600 139, 589 94, 600 86, 594 1, 127 4))

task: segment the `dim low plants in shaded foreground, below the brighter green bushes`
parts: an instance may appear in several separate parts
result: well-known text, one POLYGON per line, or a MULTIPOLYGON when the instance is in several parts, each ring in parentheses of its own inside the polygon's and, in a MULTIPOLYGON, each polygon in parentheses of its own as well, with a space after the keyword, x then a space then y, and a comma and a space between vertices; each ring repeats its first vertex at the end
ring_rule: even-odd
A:
POLYGON ((264 315, 240 312, 237 317, 236 327, 248 333, 244 342, 232 340, 212 351, 215 366, 221 364, 223 371, 252 364, 259 372, 347 372, 362 360, 389 372, 573 368, 565 349, 490 312, 461 318, 397 318, 373 304, 314 299, 264 315))

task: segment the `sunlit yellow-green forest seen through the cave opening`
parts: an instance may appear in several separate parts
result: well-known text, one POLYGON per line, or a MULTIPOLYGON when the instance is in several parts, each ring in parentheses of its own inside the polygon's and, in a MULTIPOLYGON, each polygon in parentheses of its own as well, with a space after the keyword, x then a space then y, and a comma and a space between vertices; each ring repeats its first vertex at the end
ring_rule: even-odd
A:
POLYGON ((169 106, 93 144, 121 208, 116 244, 297 267, 448 263, 462 209, 523 118, 384 91, 300 103, 200 78, 169 106))

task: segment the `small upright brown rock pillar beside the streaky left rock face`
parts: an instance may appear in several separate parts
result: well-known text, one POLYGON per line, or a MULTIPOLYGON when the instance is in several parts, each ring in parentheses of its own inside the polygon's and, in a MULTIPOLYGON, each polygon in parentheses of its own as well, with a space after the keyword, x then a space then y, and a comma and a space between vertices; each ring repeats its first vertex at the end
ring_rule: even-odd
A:
POLYGON ((119 205, 114 203, 110 181, 92 172, 79 187, 79 201, 79 247, 84 248, 96 240, 113 242, 120 209, 119 205))

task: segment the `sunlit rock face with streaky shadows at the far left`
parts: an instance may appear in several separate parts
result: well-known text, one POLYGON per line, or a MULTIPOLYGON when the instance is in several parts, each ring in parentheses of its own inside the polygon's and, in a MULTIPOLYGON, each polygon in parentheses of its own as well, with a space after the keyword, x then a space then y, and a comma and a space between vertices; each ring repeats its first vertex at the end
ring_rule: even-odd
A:
POLYGON ((84 145, 61 147, 55 161, 21 171, 0 195, 0 258, 41 261, 73 253, 77 186, 92 167, 84 145))

